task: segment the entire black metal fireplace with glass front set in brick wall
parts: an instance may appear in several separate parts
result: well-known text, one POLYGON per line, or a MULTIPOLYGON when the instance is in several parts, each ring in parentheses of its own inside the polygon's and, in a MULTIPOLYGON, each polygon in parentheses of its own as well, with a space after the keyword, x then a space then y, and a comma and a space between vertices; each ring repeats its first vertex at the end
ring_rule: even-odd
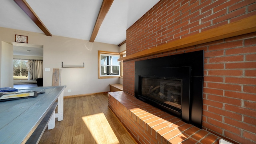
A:
POLYGON ((202 128, 204 51, 135 62, 135 97, 202 128))

